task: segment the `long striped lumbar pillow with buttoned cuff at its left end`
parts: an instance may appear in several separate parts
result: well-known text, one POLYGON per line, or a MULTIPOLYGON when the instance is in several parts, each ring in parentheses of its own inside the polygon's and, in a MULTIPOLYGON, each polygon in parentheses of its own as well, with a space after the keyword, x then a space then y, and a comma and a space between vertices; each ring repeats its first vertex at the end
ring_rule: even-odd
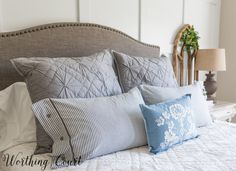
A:
POLYGON ((44 99, 33 104, 36 117, 54 140, 53 168, 146 145, 139 108, 143 103, 134 88, 112 97, 44 99))

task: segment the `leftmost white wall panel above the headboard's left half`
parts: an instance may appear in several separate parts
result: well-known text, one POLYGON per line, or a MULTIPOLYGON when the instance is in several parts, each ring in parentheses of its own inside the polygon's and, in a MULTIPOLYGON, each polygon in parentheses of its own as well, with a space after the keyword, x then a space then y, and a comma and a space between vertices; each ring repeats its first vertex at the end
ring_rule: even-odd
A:
POLYGON ((0 0, 1 31, 39 24, 77 21, 77 0, 0 0))

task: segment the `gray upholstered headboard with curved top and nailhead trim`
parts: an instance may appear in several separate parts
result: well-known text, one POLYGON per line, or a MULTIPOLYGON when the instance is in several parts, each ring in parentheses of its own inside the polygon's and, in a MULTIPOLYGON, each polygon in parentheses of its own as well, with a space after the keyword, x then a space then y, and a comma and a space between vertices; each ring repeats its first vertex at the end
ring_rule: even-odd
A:
POLYGON ((0 90, 23 81, 9 59, 16 57, 85 56, 103 49, 129 55, 158 57, 160 48, 97 24, 54 23, 0 33, 0 90))

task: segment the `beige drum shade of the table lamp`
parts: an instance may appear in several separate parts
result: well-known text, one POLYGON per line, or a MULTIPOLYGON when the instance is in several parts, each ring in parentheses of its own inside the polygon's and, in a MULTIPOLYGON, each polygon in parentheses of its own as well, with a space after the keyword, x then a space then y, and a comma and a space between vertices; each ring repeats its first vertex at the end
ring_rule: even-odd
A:
POLYGON ((225 71, 225 49, 199 49, 195 70, 225 71))

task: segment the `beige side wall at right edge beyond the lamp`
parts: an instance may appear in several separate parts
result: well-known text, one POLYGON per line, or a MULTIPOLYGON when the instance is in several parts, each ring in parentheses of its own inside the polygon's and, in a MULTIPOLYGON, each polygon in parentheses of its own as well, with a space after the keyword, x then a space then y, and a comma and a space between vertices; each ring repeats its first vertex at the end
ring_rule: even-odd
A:
POLYGON ((236 1, 222 0, 220 47, 226 49, 226 71, 218 72, 217 98, 236 102, 236 1))

